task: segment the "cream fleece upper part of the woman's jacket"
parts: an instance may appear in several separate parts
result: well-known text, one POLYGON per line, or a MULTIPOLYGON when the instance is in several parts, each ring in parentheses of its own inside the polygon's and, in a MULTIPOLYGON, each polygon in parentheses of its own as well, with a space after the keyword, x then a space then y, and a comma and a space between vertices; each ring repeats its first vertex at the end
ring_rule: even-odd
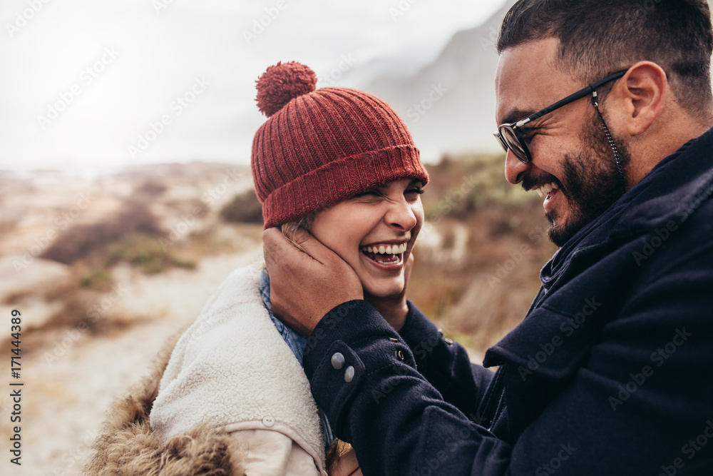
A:
POLYGON ((151 410, 151 428, 164 440, 206 421, 227 432, 246 430, 244 435, 280 432, 326 475, 307 376, 260 297, 264 267, 230 273, 178 340, 151 410))

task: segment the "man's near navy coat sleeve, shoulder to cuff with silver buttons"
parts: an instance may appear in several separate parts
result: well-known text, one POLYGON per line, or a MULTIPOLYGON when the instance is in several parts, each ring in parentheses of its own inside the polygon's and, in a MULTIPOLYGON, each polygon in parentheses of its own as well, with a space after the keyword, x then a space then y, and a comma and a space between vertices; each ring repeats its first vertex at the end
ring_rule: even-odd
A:
POLYGON ((444 400, 364 301, 334 308, 310 336, 312 393, 364 475, 710 474, 713 445, 702 441, 713 438, 713 244, 667 245, 512 444, 444 400))

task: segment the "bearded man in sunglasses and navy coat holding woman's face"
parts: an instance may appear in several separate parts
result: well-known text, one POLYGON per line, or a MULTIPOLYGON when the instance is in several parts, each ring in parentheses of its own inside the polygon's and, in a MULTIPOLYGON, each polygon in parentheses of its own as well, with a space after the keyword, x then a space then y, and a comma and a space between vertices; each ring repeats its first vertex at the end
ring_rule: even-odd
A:
POLYGON ((312 392, 364 475, 713 474, 712 49, 704 1, 508 13, 506 177, 561 248, 494 375, 413 305, 395 332, 309 233, 307 255, 265 231, 274 309, 311 333, 312 392))

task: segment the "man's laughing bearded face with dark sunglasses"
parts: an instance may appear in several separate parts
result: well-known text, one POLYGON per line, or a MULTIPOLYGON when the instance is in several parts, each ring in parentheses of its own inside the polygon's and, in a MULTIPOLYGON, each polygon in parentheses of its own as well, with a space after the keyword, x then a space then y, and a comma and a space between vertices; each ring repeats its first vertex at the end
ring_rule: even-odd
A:
MULTIPOLYGON (((546 39, 503 51, 496 74, 498 124, 520 121, 586 86, 555 69, 557 48, 557 40, 546 39)), ((590 98, 528 126, 532 161, 522 163, 508 151, 506 178, 540 193, 550 240, 562 246, 622 195, 622 179, 590 98)), ((617 148, 624 165, 626 148, 618 142, 617 148)))

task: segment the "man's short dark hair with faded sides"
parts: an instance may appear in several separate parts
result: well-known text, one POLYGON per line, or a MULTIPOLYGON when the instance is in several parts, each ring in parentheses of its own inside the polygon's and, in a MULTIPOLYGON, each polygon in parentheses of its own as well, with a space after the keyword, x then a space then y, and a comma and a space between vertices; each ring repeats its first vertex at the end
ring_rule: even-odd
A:
MULTIPOLYGON (((556 66, 588 83, 653 61, 692 116, 713 104, 711 16, 696 0, 520 0, 508 11, 498 53, 539 39, 560 40, 556 66)), ((603 91, 605 92, 605 91, 603 91)))

